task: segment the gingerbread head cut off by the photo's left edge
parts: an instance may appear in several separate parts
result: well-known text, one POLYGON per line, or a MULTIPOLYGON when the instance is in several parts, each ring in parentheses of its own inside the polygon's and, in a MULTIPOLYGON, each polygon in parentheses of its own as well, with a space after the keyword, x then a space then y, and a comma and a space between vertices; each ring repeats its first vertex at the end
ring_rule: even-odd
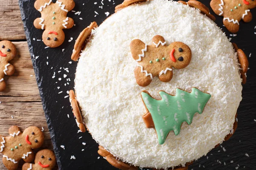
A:
POLYGON ((16 53, 15 45, 11 41, 0 42, 0 61, 8 62, 15 57, 16 53))

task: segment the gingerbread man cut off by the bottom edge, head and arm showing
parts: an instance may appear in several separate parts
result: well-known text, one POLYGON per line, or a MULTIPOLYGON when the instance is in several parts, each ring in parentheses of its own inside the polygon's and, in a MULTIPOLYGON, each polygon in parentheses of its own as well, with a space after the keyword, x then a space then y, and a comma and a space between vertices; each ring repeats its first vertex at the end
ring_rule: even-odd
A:
POLYGON ((49 149, 40 150, 35 155, 35 164, 25 163, 22 170, 52 170, 55 167, 54 152, 49 149))

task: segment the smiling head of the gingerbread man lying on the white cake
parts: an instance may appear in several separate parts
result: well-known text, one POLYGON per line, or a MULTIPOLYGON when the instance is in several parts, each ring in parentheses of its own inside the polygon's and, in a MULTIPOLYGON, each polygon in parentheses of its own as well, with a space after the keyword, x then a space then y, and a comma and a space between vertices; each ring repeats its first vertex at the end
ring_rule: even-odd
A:
POLYGON ((168 48, 169 59, 174 68, 181 69, 189 65, 192 53, 188 45, 183 42, 173 42, 168 48))

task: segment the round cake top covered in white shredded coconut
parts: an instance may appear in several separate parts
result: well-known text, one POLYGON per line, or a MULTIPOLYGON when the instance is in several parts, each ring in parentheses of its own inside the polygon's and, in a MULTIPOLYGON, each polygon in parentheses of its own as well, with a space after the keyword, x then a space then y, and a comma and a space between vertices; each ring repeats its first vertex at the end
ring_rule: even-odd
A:
POLYGON ((220 28, 199 10, 165 0, 128 6, 93 30, 75 84, 84 123, 96 142, 125 162, 154 168, 184 165, 222 143, 233 130, 242 90, 237 54, 220 28), (170 82, 155 77, 140 87, 130 42, 151 44, 155 35, 168 45, 188 45, 192 60, 186 68, 174 68, 170 82), (190 92, 192 87, 211 94, 203 113, 159 144, 155 130, 143 122, 141 91, 160 99, 159 91, 175 95, 175 88, 190 92))

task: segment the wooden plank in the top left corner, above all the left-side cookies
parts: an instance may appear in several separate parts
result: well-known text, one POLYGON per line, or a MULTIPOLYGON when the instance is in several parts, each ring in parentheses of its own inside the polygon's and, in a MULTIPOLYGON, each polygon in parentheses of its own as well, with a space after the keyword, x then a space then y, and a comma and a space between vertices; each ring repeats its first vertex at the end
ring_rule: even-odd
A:
POLYGON ((18 0, 0 0, 0 40, 25 40, 18 0))

